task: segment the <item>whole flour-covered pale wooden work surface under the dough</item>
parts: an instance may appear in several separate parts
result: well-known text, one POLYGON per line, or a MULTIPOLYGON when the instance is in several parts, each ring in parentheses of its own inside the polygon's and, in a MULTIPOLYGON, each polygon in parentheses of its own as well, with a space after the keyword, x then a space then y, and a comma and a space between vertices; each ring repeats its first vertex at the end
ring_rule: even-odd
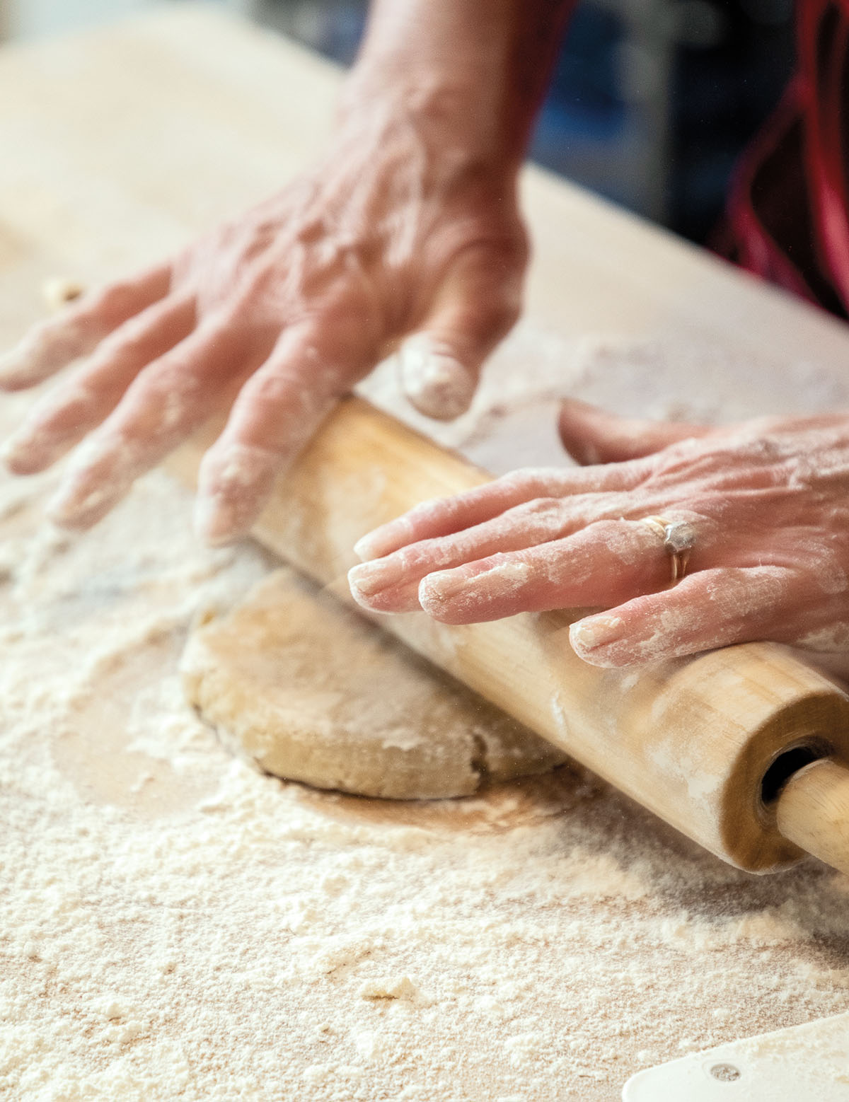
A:
MULTIPOLYGON (((143 26, 0 58, 4 342, 44 278, 173 248, 319 130, 319 63, 214 15, 143 26)), ((504 458, 501 423, 533 461, 568 389, 717 417, 846 402, 836 323, 570 188, 528 192, 530 321, 454 430, 473 454, 504 458)), ((3 400, 3 431, 29 401, 3 400)), ((577 769, 417 806, 234 759, 178 659, 195 615, 277 564, 198 548, 162 474, 94 533, 53 533, 55 477, 0 478, 3 1098, 613 1102, 641 1067, 849 1005, 849 882, 816 862, 749 877, 577 769)))

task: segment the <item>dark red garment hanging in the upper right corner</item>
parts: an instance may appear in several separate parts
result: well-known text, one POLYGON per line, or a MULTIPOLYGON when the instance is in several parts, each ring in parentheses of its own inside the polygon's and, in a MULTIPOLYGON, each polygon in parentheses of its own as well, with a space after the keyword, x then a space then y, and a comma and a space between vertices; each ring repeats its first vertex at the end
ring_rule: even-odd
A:
POLYGON ((849 0, 797 0, 799 67, 741 159, 721 251, 849 316, 849 0))

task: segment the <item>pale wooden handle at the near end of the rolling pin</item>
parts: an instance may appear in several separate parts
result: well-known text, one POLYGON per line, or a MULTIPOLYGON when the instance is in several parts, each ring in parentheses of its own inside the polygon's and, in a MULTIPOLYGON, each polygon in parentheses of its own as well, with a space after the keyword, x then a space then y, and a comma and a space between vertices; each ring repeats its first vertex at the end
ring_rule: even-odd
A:
POLYGON ((818 758, 785 782, 776 806, 778 831, 849 876, 849 769, 818 758))

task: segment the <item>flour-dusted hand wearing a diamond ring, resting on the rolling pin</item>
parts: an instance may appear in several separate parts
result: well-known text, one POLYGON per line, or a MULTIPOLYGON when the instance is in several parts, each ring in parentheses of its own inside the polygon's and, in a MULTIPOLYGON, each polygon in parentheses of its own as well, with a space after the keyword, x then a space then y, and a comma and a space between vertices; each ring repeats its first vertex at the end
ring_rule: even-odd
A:
POLYGON ((445 624, 602 607, 571 627, 594 666, 756 639, 849 650, 849 413, 710 430, 572 401, 560 434, 593 465, 417 506, 357 544, 375 561, 351 571, 355 599, 445 624), (675 585, 649 517, 691 526, 675 585))

